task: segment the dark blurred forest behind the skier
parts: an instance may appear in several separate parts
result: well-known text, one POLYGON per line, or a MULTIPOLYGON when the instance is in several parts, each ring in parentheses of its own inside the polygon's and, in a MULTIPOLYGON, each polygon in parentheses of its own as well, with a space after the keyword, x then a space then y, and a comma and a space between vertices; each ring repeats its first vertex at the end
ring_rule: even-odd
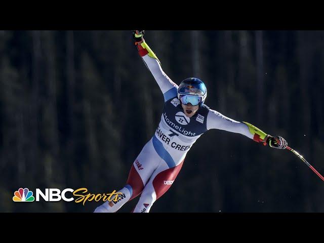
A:
MULTIPOLYGON (((0 212, 101 204, 14 203, 19 187, 124 186, 163 110, 131 33, 0 31, 0 212)), ((145 39, 175 83, 200 78, 208 106, 286 138, 324 173, 324 31, 147 30, 145 39)), ((288 150, 211 130, 151 212, 324 212, 324 184, 288 150)))

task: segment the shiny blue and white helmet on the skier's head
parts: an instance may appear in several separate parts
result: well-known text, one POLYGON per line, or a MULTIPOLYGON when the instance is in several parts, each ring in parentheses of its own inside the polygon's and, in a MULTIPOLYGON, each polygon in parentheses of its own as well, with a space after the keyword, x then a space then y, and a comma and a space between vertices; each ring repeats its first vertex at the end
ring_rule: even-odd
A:
POLYGON ((181 95, 198 96, 200 99, 200 106, 204 104, 207 97, 207 88, 203 81, 196 77, 189 77, 184 79, 178 88, 178 99, 181 101, 181 95))

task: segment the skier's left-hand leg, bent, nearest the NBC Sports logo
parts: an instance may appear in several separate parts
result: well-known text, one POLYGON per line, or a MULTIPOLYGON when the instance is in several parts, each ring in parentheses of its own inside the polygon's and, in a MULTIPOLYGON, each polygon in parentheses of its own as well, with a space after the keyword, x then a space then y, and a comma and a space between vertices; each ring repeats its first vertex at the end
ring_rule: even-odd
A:
POLYGON ((127 203, 127 201, 138 196, 156 169, 159 161, 160 157, 158 157, 154 150, 152 140, 150 140, 145 144, 142 151, 135 159, 126 185, 123 189, 117 191, 121 192, 119 199, 116 202, 105 201, 104 204, 96 208, 95 213, 114 213, 127 203))

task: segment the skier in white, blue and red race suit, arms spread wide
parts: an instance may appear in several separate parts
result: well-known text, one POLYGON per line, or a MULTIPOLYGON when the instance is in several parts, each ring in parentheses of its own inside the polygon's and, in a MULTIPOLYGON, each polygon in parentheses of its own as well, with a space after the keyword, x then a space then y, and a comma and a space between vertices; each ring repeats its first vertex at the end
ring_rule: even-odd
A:
POLYGON ((196 77, 184 79, 179 86, 164 73, 156 55, 143 38, 144 30, 133 31, 139 55, 153 74, 164 95, 164 110, 153 137, 135 159, 118 201, 106 201, 95 213, 113 213, 141 194, 134 213, 148 213, 153 203, 174 183, 184 158, 195 141, 210 129, 239 133, 269 145, 285 149, 287 142, 270 136, 247 122, 224 116, 204 104, 205 84, 196 77))

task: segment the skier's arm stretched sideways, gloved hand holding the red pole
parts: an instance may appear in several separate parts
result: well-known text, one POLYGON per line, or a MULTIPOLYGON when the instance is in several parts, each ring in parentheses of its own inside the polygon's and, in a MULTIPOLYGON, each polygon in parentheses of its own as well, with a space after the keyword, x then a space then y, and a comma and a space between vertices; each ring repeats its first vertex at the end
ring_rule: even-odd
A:
POLYGON ((273 148, 285 149, 287 147, 287 141, 284 138, 268 135, 250 123, 245 121, 240 123, 212 109, 209 110, 207 116, 207 129, 220 129, 232 133, 240 133, 258 143, 263 143, 263 145, 269 144, 273 148))

